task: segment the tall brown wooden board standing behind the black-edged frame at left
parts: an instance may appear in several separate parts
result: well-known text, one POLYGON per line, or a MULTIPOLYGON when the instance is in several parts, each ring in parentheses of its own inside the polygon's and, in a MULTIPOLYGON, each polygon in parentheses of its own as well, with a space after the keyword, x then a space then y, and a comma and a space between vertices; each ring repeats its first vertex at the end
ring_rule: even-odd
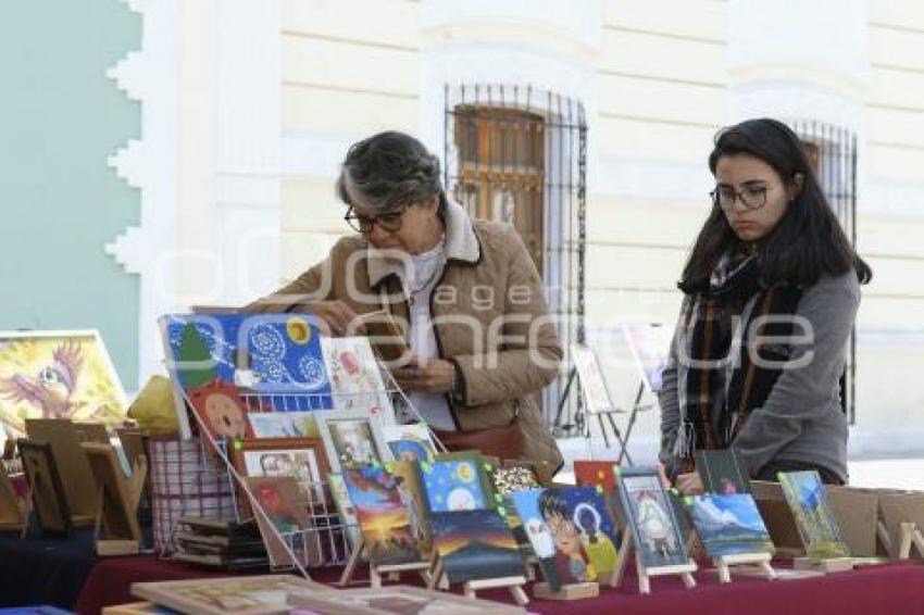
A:
POLYGON ((74 424, 68 418, 29 418, 26 432, 29 440, 51 445, 73 525, 92 527, 97 514, 93 476, 74 424))

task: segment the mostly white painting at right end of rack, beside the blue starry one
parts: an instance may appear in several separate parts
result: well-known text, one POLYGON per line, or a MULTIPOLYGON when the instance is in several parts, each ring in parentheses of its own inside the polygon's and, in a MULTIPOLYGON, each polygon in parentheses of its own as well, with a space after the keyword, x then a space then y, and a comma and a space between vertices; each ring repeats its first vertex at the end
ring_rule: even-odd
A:
POLYGON ((394 423, 395 410, 369 338, 323 338, 324 363, 337 410, 362 410, 394 423))

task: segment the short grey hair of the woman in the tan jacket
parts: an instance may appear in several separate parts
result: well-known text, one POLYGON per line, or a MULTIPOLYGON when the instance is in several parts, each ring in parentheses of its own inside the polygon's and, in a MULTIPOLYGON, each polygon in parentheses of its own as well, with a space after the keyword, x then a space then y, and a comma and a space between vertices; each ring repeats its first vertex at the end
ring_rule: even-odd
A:
POLYGON ((446 206, 439 159, 414 137, 387 131, 353 143, 340 166, 335 186, 337 197, 353 204, 362 199, 371 215, 395 211, 405 203, 439 196, 439 211, 446 206))

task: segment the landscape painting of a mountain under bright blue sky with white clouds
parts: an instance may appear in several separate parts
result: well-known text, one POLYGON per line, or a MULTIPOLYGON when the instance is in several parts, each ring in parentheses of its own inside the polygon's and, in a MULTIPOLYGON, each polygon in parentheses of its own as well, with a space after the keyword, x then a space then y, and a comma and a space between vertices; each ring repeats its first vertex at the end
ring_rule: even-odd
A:
POLYGON ((773 553, 773 541, 750 493, 685 498, 694 527, 713 560, 736 553, 773 553))

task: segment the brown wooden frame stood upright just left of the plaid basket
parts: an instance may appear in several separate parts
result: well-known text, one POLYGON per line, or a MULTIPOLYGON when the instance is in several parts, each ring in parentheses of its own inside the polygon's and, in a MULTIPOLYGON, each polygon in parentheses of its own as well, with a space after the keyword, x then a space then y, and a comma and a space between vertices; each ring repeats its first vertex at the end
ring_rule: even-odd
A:
POLYGON ((112 444, 84 442, 80 444, 90 464, 96 484, 98 527, 101 538, 140 542, 138 527, 138 495, 132 493, 122 473, 122 466, 112 444))

